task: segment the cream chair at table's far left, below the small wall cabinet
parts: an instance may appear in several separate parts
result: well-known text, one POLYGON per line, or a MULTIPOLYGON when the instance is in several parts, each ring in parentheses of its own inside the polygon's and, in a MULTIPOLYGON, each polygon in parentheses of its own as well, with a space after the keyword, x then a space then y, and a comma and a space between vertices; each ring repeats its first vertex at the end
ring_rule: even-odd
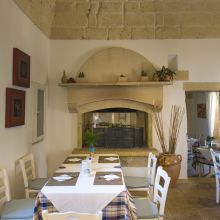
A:
POLYGON ((24 180, 25 195, 29 198, 31 194, 36 194, 43 188, 48 178, 36 178, 33 154, 20 158, 19 164, 24 180))

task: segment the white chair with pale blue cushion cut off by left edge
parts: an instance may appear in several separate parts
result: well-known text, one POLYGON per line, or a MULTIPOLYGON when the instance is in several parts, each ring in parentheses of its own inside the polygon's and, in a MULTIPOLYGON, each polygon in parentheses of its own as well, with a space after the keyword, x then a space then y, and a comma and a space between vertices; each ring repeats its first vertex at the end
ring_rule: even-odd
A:
POLYGON ((0 219, 1 220, 32 220, 35 199, 11 200, 8 175, 0 168, 0 219))

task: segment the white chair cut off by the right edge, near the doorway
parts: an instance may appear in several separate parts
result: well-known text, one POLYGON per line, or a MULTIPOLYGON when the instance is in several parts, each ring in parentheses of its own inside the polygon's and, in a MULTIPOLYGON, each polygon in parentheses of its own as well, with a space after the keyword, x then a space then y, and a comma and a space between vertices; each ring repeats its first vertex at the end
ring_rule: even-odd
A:
POLYGON ((220 194, 220 153, 216 153, 212 148, 210 149, 215 171, 216 182, 216 203, 219 203, 220 194))

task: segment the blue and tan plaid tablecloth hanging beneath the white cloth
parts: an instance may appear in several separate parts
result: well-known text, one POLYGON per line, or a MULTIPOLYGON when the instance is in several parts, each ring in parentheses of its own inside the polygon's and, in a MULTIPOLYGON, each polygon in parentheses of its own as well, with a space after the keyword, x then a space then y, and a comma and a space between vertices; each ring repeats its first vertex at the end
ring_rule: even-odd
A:
MULTIPOLYGON (((56 208, 39 192, 35 202, 33 220, 42 220, 42 211, 57 212, 56 208)), ((136 220, 136 208, 128 191, 118 194, 103 210, 103 220, 136 220)))

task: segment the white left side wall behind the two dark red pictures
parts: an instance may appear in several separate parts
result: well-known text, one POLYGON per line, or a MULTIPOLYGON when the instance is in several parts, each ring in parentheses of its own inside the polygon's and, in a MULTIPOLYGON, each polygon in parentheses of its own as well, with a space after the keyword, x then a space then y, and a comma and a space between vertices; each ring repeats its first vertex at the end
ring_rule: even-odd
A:
POLYGON ((47 174, 47 139, 31 144, 31 88, 12 85, 12 50, 17 47, 31 56, 31 81, 46 84, 49 58, 49 41, 21 12, 12 0, 0 1, 0 167, 10 176, 14 197, 24 195, 21 174, 15 176, 15 160, 33 152, 40 176, 47 174), (6 87, 26 91, 25 125, 5 128, 6 87), (15 182, 16 178, 16 182, 15 182))

